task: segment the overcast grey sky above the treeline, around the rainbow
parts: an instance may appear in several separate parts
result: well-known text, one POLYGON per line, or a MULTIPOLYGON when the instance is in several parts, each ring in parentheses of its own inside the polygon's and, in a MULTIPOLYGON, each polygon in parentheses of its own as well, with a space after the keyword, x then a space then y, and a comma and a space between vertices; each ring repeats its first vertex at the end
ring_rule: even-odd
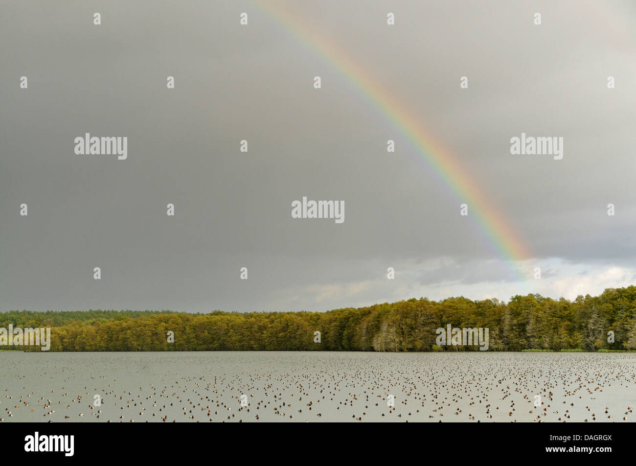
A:
POLYGON ((0 310, 325 310, 633 283, 633 3, 287 3, 461 160, 532 254, 527 281, 263 4, 3 2, 0 310), (76 155, 85 132, 127 136, 128 159, 76 155), (511 155, 522 132, 563 137, 563 159, 511 155), (303 196, 344 201, 345 222, 291 218, 303 196))

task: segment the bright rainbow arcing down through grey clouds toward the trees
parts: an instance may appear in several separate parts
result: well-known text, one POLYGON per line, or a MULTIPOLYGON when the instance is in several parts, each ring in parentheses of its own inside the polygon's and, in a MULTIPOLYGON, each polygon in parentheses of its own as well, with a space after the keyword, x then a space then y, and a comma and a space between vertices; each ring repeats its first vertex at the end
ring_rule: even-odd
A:
POLYGON ((504 260, 519 262, 531 257, 520 237, 508 225, 501 213, 488 201, 475 181, 466 174, 459 161, 440 143, 434 141, 431 136, 424 132, 417 116, 403 103, 397 101, 389 89, 374 81, 373 76, 366 73, 363 67, 352 59, 342 47, 316 31, 307 20, 273 2, 265 4, 262 0, 254 0, 254 3, 307 43, 324 60, 335 66, 359 90, 363 97, 368 99, 408 138, 417 149, 418 155, 427 162, 439 180, 450 189, 460 202, 468 204, 470 216, 473 219, 476 218, 481 232, 504 260))

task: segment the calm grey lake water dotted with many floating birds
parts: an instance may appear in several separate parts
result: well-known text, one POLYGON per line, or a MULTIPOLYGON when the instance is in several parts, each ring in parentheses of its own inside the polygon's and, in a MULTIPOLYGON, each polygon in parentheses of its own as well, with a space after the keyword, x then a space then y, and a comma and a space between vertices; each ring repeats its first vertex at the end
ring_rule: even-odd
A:
POLYGON ((636 353, 0 352, 3 422, 633 422, 635 405, 636 353))

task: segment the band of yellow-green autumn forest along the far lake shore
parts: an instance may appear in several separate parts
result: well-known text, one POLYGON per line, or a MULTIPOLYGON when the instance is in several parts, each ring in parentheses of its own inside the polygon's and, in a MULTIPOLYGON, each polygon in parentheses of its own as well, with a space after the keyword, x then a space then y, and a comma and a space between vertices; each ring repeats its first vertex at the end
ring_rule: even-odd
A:
POLYGON ((413 298, 326 312, 0 314, 0 327, 9 324, 51 327, 51 351, 478 351, 477 346, 437 346, 436 329, 448 324, 489 328, 488 351, 636 350, 636 286, 608 288, 600 296, 573 301, 532 294, 507 303, 413 298))

